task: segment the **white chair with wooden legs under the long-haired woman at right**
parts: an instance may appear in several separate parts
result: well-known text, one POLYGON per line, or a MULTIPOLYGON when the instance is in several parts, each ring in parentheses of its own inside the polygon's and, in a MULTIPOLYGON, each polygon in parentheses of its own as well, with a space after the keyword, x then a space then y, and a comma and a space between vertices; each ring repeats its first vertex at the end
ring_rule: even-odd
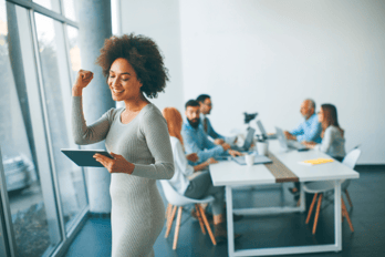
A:
MULTIPOLYGON (((354 148, 353 151, 351 151, 342 161, 343 164, 345 164, 346 166, 348 166, 350 168, 354 168, 355 164, 357 163, 357 160, 361 155, 361 150, 358 148, 354 148)), ((341 192, 344 192, 347 198, 347 202, 350 204, 351 207, 353 207, 351 197, 347 193, 347 186, 350 185, 351 179, 344 179, 341 182, 341 192)), ((313 201, 310 205, 309 208, 309 213, 308 213, 308 217, 306 217, 306 224, 309 224, 310 217, 312 215, 316 198, 318 198, 318 205, 316 205, 316 212, 315 212, 315 217, 314 217, 314 224, 313 224, 313 234, 315 234, 315 229, 316 229, 316 224, 319 220, 319 216, 320 216, 320 209, 321 209, 321 203, 322 203, 322 196, 323 194, 325 194, 326 192, 331 192, 334 191, 334 182, 310 182, 310 183, 305 183, 303 185, 303 191, 305 193, 310 193, 310 194, 314 194, 313 201)), ((354 232, 351 218, 348 216, 347 209, 346 209, 346 205, 345 202, 343 199, 343 197, 341 196, 341 207, 342 207, 342 217, 346 217, 347 224, 351 227, 351 230, 354 232)))

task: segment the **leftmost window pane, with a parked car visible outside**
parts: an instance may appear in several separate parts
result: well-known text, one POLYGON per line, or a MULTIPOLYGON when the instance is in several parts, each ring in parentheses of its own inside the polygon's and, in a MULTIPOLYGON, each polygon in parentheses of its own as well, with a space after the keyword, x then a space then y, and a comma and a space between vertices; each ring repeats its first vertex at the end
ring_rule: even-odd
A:
POLYGON ((8 20, 15 22, 17 19, 14 6, 8 4, 6 8, 6 2, 0 0, 1 162, 11 210, 10 227, 14 234, 15 256, 38 257, 59 245, 61 235, 58 219, 49 218, 37 163, 25 131, 20 100, 27 92, 17 90, 14 82, 13 75, 23 76, 24 73, 18 71, 18 74, 13 74, 11 69, 8 41, 12 39, 12 42, 17 42, 18 31, 8 31, 8 20))

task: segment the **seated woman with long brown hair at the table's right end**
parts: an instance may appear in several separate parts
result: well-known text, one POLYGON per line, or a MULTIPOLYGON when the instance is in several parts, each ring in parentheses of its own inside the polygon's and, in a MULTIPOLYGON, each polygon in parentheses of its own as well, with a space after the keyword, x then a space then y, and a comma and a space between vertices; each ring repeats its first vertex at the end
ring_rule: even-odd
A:
POLYGON ((340 127, 336 107, 333 104, 322 104, 319 112, 319 122, 322 124, 322 142, 302 142, 309 148, 326 153, 337 161, 345 156, 344 131, 340 127))

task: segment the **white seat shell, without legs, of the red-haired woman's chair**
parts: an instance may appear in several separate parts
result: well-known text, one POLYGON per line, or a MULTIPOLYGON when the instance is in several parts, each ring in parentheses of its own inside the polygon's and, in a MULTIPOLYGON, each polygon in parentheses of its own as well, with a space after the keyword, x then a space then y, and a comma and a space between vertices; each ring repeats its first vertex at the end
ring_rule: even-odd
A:
POLYGON ((163 192, 165 193, 166 199, 171 205, 183 206, 187 204, 199 204, 199 203, 209 203, 214 201, 212 196, 208 196, 204 199, 191 199, 186 196, 180 195, 174 187, 169 184, 168 181, 160 179, 160 185, 163 192))

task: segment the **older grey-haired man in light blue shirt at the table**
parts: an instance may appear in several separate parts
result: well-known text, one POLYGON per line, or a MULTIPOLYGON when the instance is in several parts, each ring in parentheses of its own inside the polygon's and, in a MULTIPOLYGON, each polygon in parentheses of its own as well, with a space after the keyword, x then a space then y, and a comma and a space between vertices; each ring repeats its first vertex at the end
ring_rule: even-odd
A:
POLYGON ((319 122, 318 115, 314 113, 315 103, 311 99, 306 99, 301 104, 301 114, 304 121, 300 125, 292 130, 291 132, 284 131, 288 140, 302 141, 313 141, 315 143, 321 143, 321 123, 319 122))

